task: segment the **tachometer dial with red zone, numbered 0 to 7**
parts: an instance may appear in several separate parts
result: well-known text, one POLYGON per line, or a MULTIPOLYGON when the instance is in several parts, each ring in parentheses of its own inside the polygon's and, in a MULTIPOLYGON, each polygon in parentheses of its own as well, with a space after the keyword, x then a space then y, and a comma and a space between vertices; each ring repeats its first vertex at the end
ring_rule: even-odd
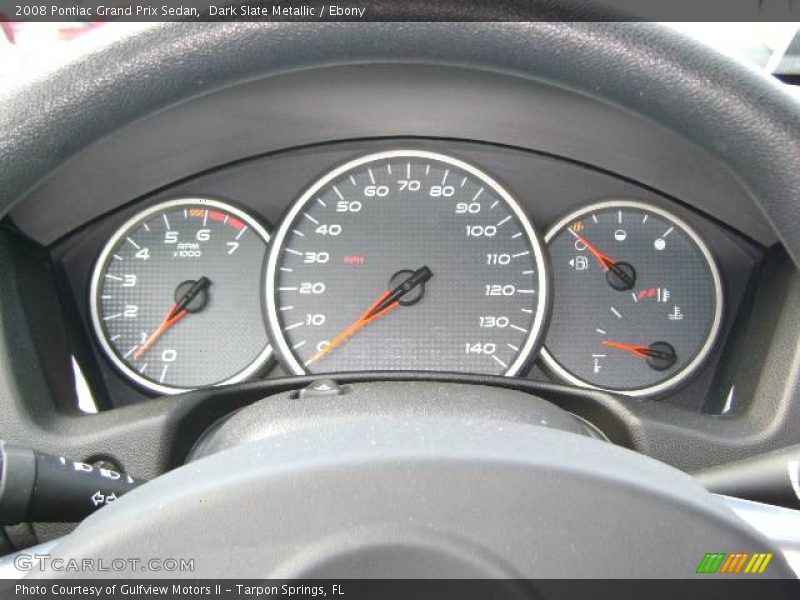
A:
POLYGON ((253 217, 214 200, 172 200, 125 223, 91 285, 111 362, 161 393, 255 374, 272 354, 261 310, 268 241, 253 217))

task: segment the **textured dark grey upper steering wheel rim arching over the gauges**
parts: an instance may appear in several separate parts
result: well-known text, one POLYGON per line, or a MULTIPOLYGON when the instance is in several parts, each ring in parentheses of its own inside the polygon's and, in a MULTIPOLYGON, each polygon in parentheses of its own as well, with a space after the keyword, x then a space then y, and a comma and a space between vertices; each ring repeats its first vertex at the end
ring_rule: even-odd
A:
POLYGON ((792 226, 800 218, 800 102, 754 67, 645 23, 133 28, 121 40, 0 98, 5 170, 0 215, 74 153, 163 107, 281 72, 380 61, 434 62, 541 79, 661 123, 736 173, 800 264, 800 228, 792 226))

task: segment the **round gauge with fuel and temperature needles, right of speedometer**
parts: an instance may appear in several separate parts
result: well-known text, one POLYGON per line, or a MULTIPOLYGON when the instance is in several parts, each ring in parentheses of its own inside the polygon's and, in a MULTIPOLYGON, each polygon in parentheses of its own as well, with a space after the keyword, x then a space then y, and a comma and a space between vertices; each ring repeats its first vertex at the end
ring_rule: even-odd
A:
POLYGON ((703 362, 719 331, 720 277, 677 217, 632 201, 580 209, 547 233, 553 314, 542 352, 562 379, 658 394, 703 362))

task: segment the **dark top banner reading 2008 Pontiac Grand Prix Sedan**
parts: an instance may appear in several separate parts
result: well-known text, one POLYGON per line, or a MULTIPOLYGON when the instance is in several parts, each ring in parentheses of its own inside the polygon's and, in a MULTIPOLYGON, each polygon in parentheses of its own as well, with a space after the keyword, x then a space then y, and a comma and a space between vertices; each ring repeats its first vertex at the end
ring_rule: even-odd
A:
POLYGON ((800 0, 0 0, 0 21, 800 21, 800 0))

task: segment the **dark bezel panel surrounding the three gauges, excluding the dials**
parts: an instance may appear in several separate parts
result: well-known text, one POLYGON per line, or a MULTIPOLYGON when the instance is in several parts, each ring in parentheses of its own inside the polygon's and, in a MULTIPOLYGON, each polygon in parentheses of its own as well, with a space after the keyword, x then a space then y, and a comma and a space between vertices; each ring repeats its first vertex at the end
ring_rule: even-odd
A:
MULTIPOLYGON (((712 352, 704 368, 699 369, 694 377, 688 378, 686 385, 680 388, 680 394, 670 390, 656 397, 677 402, 690 410, 700 410, 710 401, 712 386, 718 383, 715 378, 721 373, 719 363, 725 356, 723 350, 731 319, 737 314, 751 284, 750 278, 759 257, 758 247, 749 243, 746 238, 653 190, 587 165, 530 151, 443 140, 363 140, 256 157, 201 174, 165 188, 149 198, 132 202, 122 210, 98 219, 72 236, 64 238, 53 247, 52 252, 54 258, 63 265, 65 284, 72 296, 71 300, 77 304, 76 311, 85 318, 86 310, 80 306, 78 300, 81 287, 86 285, 81 282, 87 281, 87 263, 94 263, 110 233, 141 210, 142 206, 186 196, 213 197, 224 201, 233 199, 264 220, 280 223, 288 207, 303 190, 308 189, 310 182, 349 161, 369 154, 396 151, 398 148, 443 154, 475 165, 500 181, 519 200, 540 232, 549 229, 565 214, 608 198, 636 199, 648 206, 666 209, 684 221, 689 221, 707 241, 718 259, 721 277, 725 280, 726 303, 730 312, 720 328, 719 351, 712 352)), ((85 339, 86 331, 77 331, 76 337, 85 339)), ((84 361, 87 356, 94 359, 95 363, 86 370, 91 373, 93 388, 100 390, 98 395, 106 399, 104 404, 113 407, 149 397, 137 389, 131 389, 115 369, 107 368, 107 361, 98 352, 97 341, 92 339, 94 335, 90 330, 88 333, 82 352, 78 354, 84 361)), ((285 373, 284 367, 275 365, 263 376, 271 378, 285 373)), ((551 379, 538 363, 532 365, 527 374, 523 372, 520 376, 545 381, 551 379)), ((718 398, 715 396, 713 401, 718 402, 718 398)))

